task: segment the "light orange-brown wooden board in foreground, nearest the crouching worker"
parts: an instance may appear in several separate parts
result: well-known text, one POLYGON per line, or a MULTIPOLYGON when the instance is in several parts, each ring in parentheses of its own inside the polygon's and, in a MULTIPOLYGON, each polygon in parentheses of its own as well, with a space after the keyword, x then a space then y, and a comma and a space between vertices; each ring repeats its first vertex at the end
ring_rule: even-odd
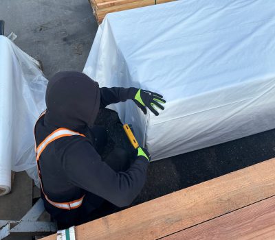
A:
POLYGON ((274 195, 272 158, 78 226, 76 237, 159 239, 274 195))

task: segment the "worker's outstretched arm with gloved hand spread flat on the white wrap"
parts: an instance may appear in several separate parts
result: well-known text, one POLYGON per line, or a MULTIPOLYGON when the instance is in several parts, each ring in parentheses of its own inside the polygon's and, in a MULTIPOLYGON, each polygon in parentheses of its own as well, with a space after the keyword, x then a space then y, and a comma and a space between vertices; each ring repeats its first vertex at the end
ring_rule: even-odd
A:
POLYGON ((120 101, 131 99, 146 114, 146 108, 149 108, 155 115, 159 115, 155 108, 164 110, 162 104, 165 100, 162 95, 138 88, 100 88, 100 106, 104 108, 109 104, 116 104, 120 101))

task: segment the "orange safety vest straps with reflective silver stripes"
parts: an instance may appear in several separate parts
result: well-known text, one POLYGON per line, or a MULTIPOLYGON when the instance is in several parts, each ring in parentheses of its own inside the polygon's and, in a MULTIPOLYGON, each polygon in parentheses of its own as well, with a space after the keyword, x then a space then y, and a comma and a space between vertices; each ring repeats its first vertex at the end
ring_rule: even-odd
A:
MULTIPOLYGON (((40 115, 39 119, 43 115, 45 115, 45 112, 46 111, 42 112, 42 114, 40 115)), ((35 126, 34 126, 34 130, 35 130, 35 126)), ((47 145, 49 145, 50 143, 52 143, 56 139, 61 139, 64 136, 73 136, 73 135, 79 135, 79 136, 86 137, 85 135, 80 134, 79 132, 74 132, 74 131, 69 130, 67 128, 58 128, 54 132, 52 132, 49 136, 47 136, 44 139, 44 141, 42 141, 42 143, 39 144, 38 147, 36 147, 36 140, 34 139, 34 141, 35 141, 35 152, 36 152, 37 170, 38 170, 38 173, 39 173, 39 180, 41 182, 41 190, 42 190, 43 194, 45 195, 45 199, 47 200, 47 202, 49 202, 50 204, 52 204, 56 208, 67 209, 67 210, 71 210, 71 209, 78 208, 79 206, 81 206, 81 204, 83 202, 83 198, 85 197, 85 195, 83 195, 83 197, 81 197, 80 199, 74 200, 72 202, 54 202, 54 201, 50 200, 49 197, 47 197, 47 195, 45 194, 45 192, 43 190, 42 176, 41 176, 41 170, 40 170, 40 166, 39 166, 39 158, 40 158, 42 152, 44 151, 44 149, 47 147, 47 145)))

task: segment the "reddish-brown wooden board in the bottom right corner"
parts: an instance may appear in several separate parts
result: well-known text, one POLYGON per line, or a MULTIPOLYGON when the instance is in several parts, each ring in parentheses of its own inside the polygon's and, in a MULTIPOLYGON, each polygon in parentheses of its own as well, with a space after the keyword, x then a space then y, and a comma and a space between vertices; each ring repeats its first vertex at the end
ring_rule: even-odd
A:
POLYGON ((275 197, 270 197, 163 240, 275 239, 275 197))

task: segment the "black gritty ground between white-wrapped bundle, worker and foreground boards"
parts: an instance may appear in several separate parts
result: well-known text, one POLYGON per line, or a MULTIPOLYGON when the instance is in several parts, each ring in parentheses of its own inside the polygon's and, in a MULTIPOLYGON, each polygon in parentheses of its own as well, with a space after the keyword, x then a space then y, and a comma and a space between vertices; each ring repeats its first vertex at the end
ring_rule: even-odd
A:
MULTIPOLYGON (((108 109, 100 110, 96 123, 107 128, 109 150, 117 146, 131 152, 131 145, 128 143, 116 112, 108 109)), ((270 130, 154 161, 149 165, 146 184, 134 204, 261 163, 274 156, 275 130, 270 130)))

